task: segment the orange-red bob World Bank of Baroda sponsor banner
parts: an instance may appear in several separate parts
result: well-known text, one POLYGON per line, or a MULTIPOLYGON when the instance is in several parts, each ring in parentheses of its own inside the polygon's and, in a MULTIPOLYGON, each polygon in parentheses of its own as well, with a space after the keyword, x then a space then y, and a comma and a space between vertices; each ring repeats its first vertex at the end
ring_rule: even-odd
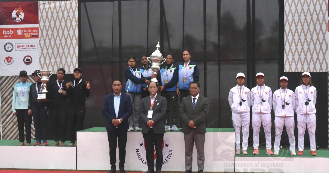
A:
POLYGON ((0 39, 39 38, 39 28, 0 28, 0 39))

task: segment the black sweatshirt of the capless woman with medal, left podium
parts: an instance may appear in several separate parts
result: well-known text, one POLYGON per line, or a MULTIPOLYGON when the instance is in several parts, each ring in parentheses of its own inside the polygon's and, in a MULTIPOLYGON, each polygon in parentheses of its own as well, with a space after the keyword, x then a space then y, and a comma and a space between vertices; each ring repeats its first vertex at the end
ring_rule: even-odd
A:
MULTIPOLYGON (((64 80, 58 82, 61 86, 62 82, 64 80)), ((68 97, 67 95, 69 94, 68 93, 68 89, 66 89, 66 82, 64 82, 62 84, 62 90, 63 91, 66 91, 67 95, 64 96, 63 94, 59 93, 58 90, 60 89, 60 87, 57 85, 57 81, 52 81, 49 83, 49 85, 47 86, 47 90, 48 90, 48 93, 51 97, 51 100, 52 102, 49 103, 49 106, 52 106, 52 107, 65 107, 66 106, 66 101, 65 99, 68 97)))

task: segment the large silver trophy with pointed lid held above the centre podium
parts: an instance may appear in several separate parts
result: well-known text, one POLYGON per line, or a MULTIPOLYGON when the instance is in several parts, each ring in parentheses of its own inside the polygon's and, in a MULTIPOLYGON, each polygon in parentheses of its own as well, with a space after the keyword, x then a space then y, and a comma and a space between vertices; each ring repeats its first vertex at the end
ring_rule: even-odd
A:
MULTIPOLYGON (((155 50, 152 54, 151 57, 147 57, 147 60, 152 63, 151 69, 153 74, 157 75, 158 71, 160 71, 160 66, 165 62, 165 58, 163 58, 162 54, 160 53, 160 44, 158 42, 156 46, 157 50, 155 50), (151 61, 150 61, 151 59, 151 61)), ((151 82, 158 82, 157 78, 151 79, 151 82)))

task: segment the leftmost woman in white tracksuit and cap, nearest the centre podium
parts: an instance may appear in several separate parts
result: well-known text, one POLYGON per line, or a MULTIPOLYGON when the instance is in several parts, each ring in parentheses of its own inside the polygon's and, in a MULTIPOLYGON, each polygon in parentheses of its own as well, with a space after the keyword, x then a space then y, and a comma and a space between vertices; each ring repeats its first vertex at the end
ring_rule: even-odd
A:
POLYGON ((232 123, 235 129, 236 154, 240 154, 240 130, 242 128, 242 154, 247 153, 250 122, 250 90, 243 86, 245 77, 238 73, 237 86, 230 90, 228 102, 232 109, 232 123))

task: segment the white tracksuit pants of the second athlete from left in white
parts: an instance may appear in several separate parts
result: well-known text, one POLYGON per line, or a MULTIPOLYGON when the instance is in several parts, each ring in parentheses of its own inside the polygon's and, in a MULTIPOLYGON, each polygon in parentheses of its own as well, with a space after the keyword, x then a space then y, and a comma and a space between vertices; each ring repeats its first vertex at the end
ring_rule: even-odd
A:
POLYGON ((265 140, 266 140, 266 149, 272 149, 271 144, 271 113, 253 113, 252 114, 252 130, 254 134, 254 149, 258 149, 259 146, 259 131, 261 129, 261 125, 263 124, 264 132, 265 132, 265 140))

